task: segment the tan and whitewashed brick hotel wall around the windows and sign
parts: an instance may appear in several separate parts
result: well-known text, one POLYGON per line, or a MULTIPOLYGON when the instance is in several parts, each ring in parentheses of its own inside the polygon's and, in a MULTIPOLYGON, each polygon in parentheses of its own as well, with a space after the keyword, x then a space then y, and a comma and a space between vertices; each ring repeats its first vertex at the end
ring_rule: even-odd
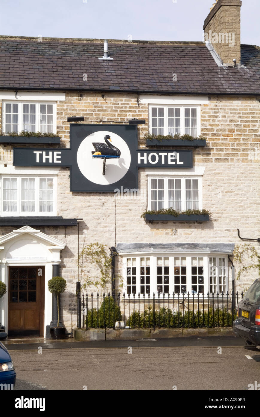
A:
MULTIPOLYGON (((137 105, 136 95, 106 93, 67 93, 66 100, 57 103, 57 130, 62 146, 69 147, 67 116, 84 116, 84 123, 128 121, 145 118, 146 125, 139 131, 139 146, 144 147, 144 134, 148 131, 148 105, 137 105)), ((79 250, 99 241, 106 246, 116 243, 150 242, 225 242, 241 245, 237 228, 242 236, 259 237, 260 201, 260 103, 250 97, 211 96, 209 104, 201 106, 202 134, 207 138, 205 148, 194 149, 195 166, 204 166, 203 207, 212 212, 204 223, 155 222, 146 224, 141 214, 147 208, 146 198, 116 198, 112 193, 78 193, 69 191, 69 170, 60 168, 57 179, 57 215, 64 218, 83 218, 79 224, 79 250), (116 224, 115 224, 116 219, 116 224)), ((7 147, 9 148, 9 147, 7 147)), ((2 162, 2 161, 1 161, 2 162)), ((1 167, 2 168, 2 167, 1 167)), ((3 172, 4 168, 1 169, 3 172)), ((139 188, 147 190, 144 168, 139 169, 139 188)), ((7 234, 13 227, 2 228, 7 234)), ((64 324, 68 330, 76 322, 77 280, 77 228, 41 228, 43 233, 66 243, 61 251, 60 274, 68 288, 62 295, 64 324)), ((256 247, 259 244, 256 242, 256 247)), ((121 259, 117 272, 122 274, 121 259)), ((238 270, 238 265, 236 268, 238 270)), ((254 275, 236 281, 236 289, 245 289, 254 275)), ((96 292, 96 290, 94 290, 96 292)))

